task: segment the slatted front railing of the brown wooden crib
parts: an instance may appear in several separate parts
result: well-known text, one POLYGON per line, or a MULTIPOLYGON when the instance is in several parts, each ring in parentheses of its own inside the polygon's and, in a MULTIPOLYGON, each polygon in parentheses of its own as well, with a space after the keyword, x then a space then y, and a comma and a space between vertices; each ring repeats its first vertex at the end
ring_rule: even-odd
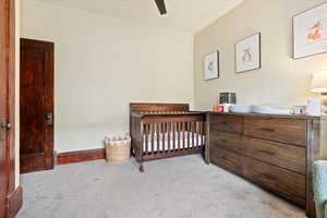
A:
POLYGON ((132 145, 140 161, 201 153, 205 116, 131 116, 132 145))

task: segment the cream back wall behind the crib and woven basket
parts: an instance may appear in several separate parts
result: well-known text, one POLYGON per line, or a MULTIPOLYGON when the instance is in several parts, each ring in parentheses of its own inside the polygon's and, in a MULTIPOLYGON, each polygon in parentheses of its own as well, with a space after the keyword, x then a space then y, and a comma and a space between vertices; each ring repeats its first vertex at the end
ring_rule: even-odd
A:
POLYGON ((102 147, 131 101, 193 101, 193 36, 22 1, 22 37, 56 44, 56 149, 102 147))

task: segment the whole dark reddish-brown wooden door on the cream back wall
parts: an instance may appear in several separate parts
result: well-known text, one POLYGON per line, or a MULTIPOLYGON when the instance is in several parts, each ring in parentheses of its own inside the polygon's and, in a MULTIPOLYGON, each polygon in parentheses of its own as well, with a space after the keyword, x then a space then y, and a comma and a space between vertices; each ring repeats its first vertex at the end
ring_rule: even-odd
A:
POLYGON ((21 172, 53 169, 53 44, 21 39, 21 172))

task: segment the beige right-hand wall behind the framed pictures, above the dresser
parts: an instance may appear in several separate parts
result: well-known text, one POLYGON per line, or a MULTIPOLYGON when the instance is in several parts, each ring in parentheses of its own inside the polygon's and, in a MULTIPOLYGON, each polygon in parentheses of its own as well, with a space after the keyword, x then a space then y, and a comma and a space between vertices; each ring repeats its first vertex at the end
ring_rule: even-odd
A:
POLYGON ((324 0, 245 0, 194 37, 195 105, 217 104, 218 93, 237 92, 239 104, 305 105, 311 75, 327 69, 327 55, 292 59, 292 16, 324 0), (262 33, 261 70, 235 74, 234 44, 262 33), (203 81, 205 53, 220 51, 220 77, 203 81))

